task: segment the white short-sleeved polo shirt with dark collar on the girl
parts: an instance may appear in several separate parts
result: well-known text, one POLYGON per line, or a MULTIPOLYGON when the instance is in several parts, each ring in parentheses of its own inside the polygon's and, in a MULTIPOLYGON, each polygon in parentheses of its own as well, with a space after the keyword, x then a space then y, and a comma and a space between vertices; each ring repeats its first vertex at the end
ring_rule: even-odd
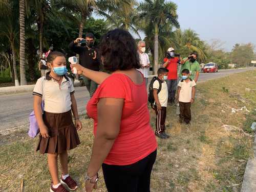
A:
POLYGON ((74 94, 74 86, 71 79, 63 76, 59 83, 46 74, 37 80, 33 95, 42 97, 45 101, 45 111, 50 113, 65 113, 71 110, 71 94, 74 94))

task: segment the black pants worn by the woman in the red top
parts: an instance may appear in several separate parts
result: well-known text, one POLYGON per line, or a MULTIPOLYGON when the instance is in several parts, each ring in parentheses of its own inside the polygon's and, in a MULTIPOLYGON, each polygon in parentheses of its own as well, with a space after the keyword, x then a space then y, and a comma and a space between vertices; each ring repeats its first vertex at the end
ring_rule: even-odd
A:
POLYGON ((150 192, 150 178, 157 150, 131 165, 102 164, 109 192, 150 192))

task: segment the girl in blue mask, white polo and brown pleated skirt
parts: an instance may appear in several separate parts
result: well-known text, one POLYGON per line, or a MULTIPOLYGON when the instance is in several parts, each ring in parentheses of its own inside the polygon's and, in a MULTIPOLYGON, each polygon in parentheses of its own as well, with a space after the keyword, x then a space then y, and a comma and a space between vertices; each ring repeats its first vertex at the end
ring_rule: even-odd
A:
POLYGON ((50 191, 68 191, 77 188, 76 182, 69 176, 67 150, 80 144, 77 130, 82 128, 79 121, 74 86, 66 76, 66 58, 60 52, 51 52, 47 58, 51 69, 46 77, 37 80, 33 90, 34 111, 39 126, 37 151, 48 154, 49 171, 52 177, 50 191), (44 100, 44 111, 41 102, 44 100), (72 112, 75 125, 72 120, 72 112), (43 112, 43 114, 42 114, 43 112), (58 178, 59 156, 62 176, 58 178))

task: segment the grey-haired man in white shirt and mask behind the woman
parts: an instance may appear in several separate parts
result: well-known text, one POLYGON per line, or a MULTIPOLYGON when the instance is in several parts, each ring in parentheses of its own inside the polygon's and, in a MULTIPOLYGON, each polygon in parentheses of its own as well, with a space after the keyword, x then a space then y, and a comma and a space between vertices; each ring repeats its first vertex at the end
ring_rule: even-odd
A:
POLYGON ((140 58, 141 68, 138 70, 143 74, 145 83, 146 83, 146 88, 147 88, 148 71, 150 69, 150 58, 145 53, 145 51, 146 51, 146 43, 144 41, 139 41, 138 42, 138 54, 139 54, 139 58, 140 58))

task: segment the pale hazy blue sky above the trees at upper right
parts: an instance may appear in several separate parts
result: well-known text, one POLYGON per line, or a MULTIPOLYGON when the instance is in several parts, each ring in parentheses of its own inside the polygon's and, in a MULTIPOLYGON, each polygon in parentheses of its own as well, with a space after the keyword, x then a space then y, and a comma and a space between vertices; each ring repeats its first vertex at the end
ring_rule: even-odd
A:
POLYGON ((181 29, 191 28, 202 40, 220 39, 230 51, 236 43, 256 45, 256 0, 173 0, 181 29))

